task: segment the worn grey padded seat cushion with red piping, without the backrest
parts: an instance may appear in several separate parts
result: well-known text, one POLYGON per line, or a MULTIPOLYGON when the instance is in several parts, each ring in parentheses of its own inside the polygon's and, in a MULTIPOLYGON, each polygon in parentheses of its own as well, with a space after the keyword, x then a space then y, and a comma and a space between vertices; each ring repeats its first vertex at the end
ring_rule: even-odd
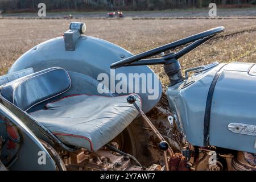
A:
MULTIPOLYGON (((141 100, 137 96, 137 104, 141 100)), ((64 97, 46 105, 46 110, 29 113, 63 143, 97 151, 117 137, 138 115, 127 96, 86 94, 64 97)))

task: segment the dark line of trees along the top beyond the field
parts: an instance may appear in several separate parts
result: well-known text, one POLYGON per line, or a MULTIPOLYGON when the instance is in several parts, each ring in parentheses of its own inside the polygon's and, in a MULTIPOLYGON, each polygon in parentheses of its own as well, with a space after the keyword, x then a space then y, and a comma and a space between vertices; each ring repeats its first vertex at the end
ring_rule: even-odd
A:
POLYGON ((36 11, 40 2, 47 10, 165 10, 208 7, 214 2, 222 7, 249 7, 256 0, 0 0, 0 10, 36 11))

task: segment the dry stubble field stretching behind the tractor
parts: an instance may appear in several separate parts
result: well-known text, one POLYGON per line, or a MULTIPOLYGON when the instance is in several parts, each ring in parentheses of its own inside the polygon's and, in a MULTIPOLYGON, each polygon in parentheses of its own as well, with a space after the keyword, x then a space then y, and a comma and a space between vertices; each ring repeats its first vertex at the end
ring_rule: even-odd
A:
MULTIPOLYGON (((19 56, 45 40, 63 35, 72 20, 0 20, 0 75, 19 56)), ((180 59, 186 68, 212 61, 256 59, 255 19, 183 19, 183 20, 85 20, 87 35, 106 39, 136 54, 197 32, 225 26, 225 37, 212 40, 180 59), (234 34, 241 31, 239 34, 234 34), (254 31, 246 31, 254 30, 254 31)), ((167 83, 162 66, 152 66, 167 83)))

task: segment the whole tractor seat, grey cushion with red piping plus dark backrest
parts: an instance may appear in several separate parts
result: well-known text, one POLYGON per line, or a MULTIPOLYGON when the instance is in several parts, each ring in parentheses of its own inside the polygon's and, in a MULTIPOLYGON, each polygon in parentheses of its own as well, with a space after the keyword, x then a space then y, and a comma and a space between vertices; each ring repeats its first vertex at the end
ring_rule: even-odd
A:
MULTIPOLYGON (((40 122, 61 142, 97 151, 117 137, 139 114, 127 96, 73 95, 48 102, 45 109, 29 109, 61 96, 71 87, 68 72, 49 68, 18 78, 1 87, 1 95, 40 122)), ((141 106, 138 95, 137 104, 141 106)))

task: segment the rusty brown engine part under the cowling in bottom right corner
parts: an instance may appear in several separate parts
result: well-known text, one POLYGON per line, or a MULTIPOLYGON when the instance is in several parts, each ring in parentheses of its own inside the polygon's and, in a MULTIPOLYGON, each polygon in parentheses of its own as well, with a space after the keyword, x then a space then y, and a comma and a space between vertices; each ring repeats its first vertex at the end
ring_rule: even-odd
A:
POLYGON ((248 152, 237 152, 237 157, 232 159, 232 167, 237 171, 256 171, 256 156, 248 152))

